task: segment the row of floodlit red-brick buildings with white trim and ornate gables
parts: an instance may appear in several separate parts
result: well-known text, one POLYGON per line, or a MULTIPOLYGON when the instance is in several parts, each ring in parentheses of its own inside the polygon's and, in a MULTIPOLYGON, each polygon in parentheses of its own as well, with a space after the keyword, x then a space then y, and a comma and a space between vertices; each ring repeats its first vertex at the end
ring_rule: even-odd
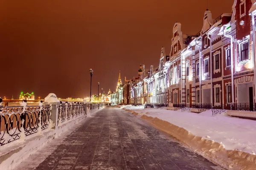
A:
POLYGON ((194 35, 175 23, 169 55, 163 47, 157 68, 140 66, 138 76, 125 81, 124 103, 255 103, 255 16, 255 0, 235 0, 230 14, 212 19, 205 11, 194 35))

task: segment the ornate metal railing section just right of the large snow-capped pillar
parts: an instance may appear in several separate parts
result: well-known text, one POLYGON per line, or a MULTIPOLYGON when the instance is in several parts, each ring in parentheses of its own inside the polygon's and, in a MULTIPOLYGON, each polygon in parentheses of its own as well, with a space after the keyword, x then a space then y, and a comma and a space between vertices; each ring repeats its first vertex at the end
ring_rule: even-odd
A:
POLYGON ((86 114, 86 104, 74 102, 74 103, 62 103, 58 108, 58 124, 66 122, 72 118, 86 114))

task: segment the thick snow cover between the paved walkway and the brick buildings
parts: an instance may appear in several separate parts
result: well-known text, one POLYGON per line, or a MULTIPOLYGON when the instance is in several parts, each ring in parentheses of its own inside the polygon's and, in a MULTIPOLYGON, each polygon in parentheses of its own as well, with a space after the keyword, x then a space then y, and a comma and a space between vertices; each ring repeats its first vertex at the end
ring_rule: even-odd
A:
POLYGON ((142 115, 142 119, 227 169, 255 170, 256 121, 212 116, 210 110, 198 114, 135 106, 124 109, 142 115))

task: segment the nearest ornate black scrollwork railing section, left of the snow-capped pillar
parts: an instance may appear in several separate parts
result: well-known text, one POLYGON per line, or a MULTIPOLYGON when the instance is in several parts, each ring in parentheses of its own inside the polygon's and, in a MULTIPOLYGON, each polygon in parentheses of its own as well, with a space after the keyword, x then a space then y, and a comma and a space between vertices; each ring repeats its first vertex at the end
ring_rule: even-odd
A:
POLYGON ((51 105, 0 108, 0 146, 49 127, 51 105))

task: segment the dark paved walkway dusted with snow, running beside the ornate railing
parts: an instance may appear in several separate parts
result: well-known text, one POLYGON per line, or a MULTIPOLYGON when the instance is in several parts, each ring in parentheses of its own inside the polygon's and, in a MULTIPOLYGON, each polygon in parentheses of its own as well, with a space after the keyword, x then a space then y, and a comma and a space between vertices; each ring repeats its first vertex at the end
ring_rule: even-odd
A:
POLYGON ((108 106, 17 170, 221 170, 128 111, 108 106))

